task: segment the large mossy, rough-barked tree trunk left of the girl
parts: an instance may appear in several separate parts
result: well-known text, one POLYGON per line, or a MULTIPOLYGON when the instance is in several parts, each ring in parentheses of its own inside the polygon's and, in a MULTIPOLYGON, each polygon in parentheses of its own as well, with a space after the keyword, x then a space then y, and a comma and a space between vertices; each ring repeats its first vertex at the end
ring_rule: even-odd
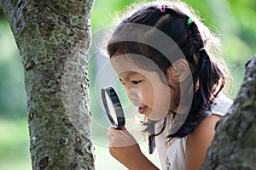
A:
POLYGON ((93 0, 0 0, 23 59, 33 169, 94 169, 87 60, 93 0))

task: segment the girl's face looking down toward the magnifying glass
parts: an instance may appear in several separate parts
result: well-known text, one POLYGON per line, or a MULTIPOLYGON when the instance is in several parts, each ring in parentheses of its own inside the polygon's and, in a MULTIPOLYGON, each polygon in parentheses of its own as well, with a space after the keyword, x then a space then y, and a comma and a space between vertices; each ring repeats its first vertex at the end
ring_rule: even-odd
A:
POLYGON ((139 113, 155 121, 167 116, 173 107, 171 96, 175 91, 167 81, 160 79, 159 73, 141 69, 122 56, 113 57, 111 64, 125 86, 128 99, 137 106, 139 113))

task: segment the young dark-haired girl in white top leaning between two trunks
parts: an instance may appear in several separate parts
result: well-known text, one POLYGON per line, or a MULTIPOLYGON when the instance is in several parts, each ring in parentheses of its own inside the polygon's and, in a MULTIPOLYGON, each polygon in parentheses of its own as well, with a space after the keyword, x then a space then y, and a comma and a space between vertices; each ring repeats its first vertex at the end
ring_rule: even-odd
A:
MULTIPOLYGON (((119 81, 159 153, 160 169, 200 169, 214 127, 232 101, 221 93, 226 65, 218 39, 181 2, 143 4, 108 42, 119 81)), ((108 129, 110 154, 129 169, 159 169, 125 127, 108 129)))

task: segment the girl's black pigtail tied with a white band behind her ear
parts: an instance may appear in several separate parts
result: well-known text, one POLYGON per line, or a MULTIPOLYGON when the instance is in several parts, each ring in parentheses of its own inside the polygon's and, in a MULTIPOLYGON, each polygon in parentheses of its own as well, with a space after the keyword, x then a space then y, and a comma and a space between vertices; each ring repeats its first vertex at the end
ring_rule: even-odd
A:
POLYGON ((220 89, 217 89, 218 82, 224 80, 224 74, 218 69, 218 65, 212 61, 207 53, 207 49, 205 48, 205 44, 195 22, 191 23, 190 31, 192 41, 195 43, 196 48, 196 51, 191 57, 198 56, 198 63, 192 75, 195 83, 194 86, 198 87, 195 89, 195 94, 201 96, 199 98, 201 98, 202 108, 209 110, 208 107, 212 104, 212 98, 217 96, 218 92, 223 87, 222 84, 220 89))

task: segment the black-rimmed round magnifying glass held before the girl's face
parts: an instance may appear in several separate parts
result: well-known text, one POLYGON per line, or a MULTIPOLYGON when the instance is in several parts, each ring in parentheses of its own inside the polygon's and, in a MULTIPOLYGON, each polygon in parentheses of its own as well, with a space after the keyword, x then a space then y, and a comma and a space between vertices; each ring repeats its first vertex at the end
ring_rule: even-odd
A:
POLYGON ((125 126, 125 115, 119 97, 113 87, 102 88, 102 102, 109 121, 116 129, 125 126))

